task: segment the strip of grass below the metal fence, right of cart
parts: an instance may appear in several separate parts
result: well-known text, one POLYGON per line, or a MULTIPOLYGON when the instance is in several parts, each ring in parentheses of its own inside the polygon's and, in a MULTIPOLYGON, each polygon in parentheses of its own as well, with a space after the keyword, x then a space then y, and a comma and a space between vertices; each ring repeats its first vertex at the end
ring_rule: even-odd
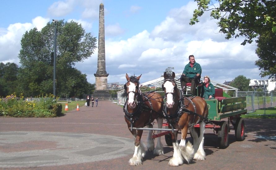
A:
POLYGON ((276 119, 276 107, 258 109, 255 112, 248 113, 246 115, 241 115, 243 118, 269 118, 276 119))

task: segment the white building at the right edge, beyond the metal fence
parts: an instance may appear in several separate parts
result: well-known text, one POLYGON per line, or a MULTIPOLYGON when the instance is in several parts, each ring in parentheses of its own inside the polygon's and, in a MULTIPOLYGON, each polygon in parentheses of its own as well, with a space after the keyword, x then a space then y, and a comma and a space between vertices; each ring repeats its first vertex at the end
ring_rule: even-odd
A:
POLYGON ((266 80, 257 80, 257 79, 252 79, 250 80, 249 86, 252 87, 253 89, 264 89, 265 91, 272 91, 276 87, 276 82, 271 81, 271 79, 266 79, 266 80))

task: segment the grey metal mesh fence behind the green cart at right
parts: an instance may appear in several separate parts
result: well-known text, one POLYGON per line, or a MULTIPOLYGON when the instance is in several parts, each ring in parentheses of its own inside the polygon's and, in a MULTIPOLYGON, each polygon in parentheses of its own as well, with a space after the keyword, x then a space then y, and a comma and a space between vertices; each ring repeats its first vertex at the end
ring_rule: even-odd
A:
POLYGON ((235 96, 246 97, 248 112, 254 112, 256 109, 265 109, 276 106, 276 92, 237 91, 235 96))

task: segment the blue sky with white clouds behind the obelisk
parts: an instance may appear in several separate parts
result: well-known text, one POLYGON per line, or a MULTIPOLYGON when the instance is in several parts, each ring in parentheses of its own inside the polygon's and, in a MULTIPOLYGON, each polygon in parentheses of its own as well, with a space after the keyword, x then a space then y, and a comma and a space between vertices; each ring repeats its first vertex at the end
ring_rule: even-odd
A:
MULTIPOLYGON (((140 83, 160 78, 168 67, 182 73, 189 55, 202 67, 202 77, 224 83, 239 75, 261 78, 254 65, 256 44, 240 45, 244 37, 225 39, 217 20, 206 13, 189 25, 193 0, 9 0, 0 6, 0 62, 20 66, 20 41, 26 31, 41 30, 52 19, 81 23, 99 37, 99 5, 104 5, 107 83, 125 83, 125 74, 140 75, 140 83)), ((98 46, 98 42, 97 42, 98 46)), ((95 83, 98 49, 74 66, 95 83)))

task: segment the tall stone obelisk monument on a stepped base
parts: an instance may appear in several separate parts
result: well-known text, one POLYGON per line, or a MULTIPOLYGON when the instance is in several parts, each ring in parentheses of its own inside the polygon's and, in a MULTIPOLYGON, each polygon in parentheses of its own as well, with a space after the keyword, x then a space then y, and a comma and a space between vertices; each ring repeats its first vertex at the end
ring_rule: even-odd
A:
POLYGON ((103 3, 100 4, 99 15, 99 46, 98 46, 98 70, 94 74, 96 78, 96 90, 93 97, 99 100, 109 100, 110 94, 107 89, 107 76, 105 70, 105 40, 104 40, 104 8, 103 3))

